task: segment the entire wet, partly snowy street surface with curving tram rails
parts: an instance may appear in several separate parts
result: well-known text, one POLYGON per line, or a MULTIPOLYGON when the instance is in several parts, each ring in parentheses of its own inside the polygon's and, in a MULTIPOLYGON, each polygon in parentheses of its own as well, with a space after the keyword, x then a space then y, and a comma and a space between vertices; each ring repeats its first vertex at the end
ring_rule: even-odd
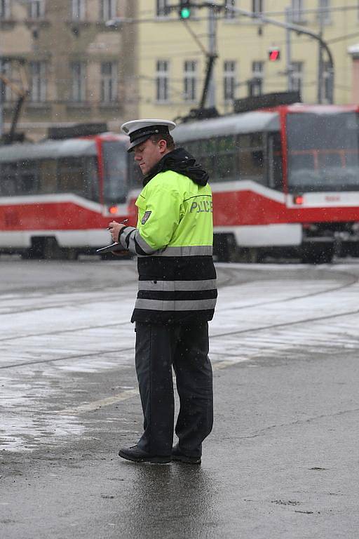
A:
POLYGON ((215 428, 189 470, 116 458, 142 423, 135 262, 1 265, 1 537, 354 539, 359 264, 217 271, 215 428))

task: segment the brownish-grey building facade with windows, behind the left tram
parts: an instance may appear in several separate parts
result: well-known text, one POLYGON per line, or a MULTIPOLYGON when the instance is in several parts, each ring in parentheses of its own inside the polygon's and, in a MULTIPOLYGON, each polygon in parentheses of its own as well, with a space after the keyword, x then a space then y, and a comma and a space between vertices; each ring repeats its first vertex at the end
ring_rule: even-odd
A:
POLYGON ((19 91, 27 98, 18 131, 30 140, 83 122, 118 132, 137 116, 137 27, 106 24, 136 10, 136 0, 1 0, 4 132, 19 91))

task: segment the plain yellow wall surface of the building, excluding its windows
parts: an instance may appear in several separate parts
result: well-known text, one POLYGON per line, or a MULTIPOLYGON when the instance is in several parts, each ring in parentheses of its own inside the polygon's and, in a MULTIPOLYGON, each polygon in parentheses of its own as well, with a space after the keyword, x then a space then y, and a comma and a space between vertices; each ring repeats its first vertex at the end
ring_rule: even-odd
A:
MULTIPOLYGON (((170 0, 168 4, 175 4, 170 0)), ((199 3, 199 2, 198 2, 199 3)), ((196 107, 201 98, 205 78, 205 53, 208 51, 208 9, 201 8, 191 16, 187 25, 179 20, 177 11, 165 17, 156 18, 156 1, 138 2, 138 88, 140 117, 175 118, 187 114, 196 107), (196 39, 194 38, 194 35, 196 39), (201 44, 198 44, 198 41, 201 44), (156 62, 168 60, 169 99, 168 102, 156 101, 156 62), (184 100, 184 61, 198 62, 196 102, 184 100)), ((217 4, 222 1, 217 0, 217 4)), ((230 2, 229 2, 230 4, 230 2)), ((285 8, 290 0, 263 0, 264 15, 268 18, 285 21, 285 8)), ((320 22, 316 9, 318 1, 302 1, 302 16, 299 23, 311 32, 320 32, 320 22), (306 10, 311 11, 306 13, 306 10)), ((325 2, 324 2, 325 4, 325 2)), ((359 41, 359 7, 353 7, 352 0, 331 0, 327 20, 323 23, 323 39, 327 42, 334 58, 334 102, 352 102, 352 58, 348 46, 359 41), (349 9, 346 9, 349 8, 349 9)), ((244 10, 252 10, 252 1, 237 0, 236 5, 244 10)), ((298 23, 298 24, 299 24, 298 23)), ((318 42, 309 36, 291 32, 291 60, 302 62, 302 100, 318 102, 318 42)), ((236 62, 235 98, 248 95, 246 81, 252 79, 252 62, 264 62, 263 92, 286 91, 286 31, 257 20, 236 15, 234 19, 217 15, 217 54, 215 64, 215 95, 219 112, 231 112, 231 102, 224 101, 224 61, 236 62), (280 60, 270 62, 268 51, 271 46, 280 48, 280 60)), ((326 60, 325 52, 323 58, 326 60)))

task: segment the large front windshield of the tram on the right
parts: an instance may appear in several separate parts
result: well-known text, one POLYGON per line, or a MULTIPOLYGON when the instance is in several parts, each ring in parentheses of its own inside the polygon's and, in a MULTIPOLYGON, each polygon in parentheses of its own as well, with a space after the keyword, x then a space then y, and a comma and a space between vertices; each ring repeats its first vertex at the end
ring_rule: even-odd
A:
POLYGON ((288 189, 359 190, 355 112, 287 114, 288 189))

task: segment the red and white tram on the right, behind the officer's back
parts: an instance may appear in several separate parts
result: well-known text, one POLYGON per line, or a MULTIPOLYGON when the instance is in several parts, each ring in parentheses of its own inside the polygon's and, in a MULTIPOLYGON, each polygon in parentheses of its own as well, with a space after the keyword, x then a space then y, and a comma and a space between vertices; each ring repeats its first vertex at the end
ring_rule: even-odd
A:
POLYGON ((359 255, 358 113, 295 104, 177 126, 210 173, 220 260, 359 255))

